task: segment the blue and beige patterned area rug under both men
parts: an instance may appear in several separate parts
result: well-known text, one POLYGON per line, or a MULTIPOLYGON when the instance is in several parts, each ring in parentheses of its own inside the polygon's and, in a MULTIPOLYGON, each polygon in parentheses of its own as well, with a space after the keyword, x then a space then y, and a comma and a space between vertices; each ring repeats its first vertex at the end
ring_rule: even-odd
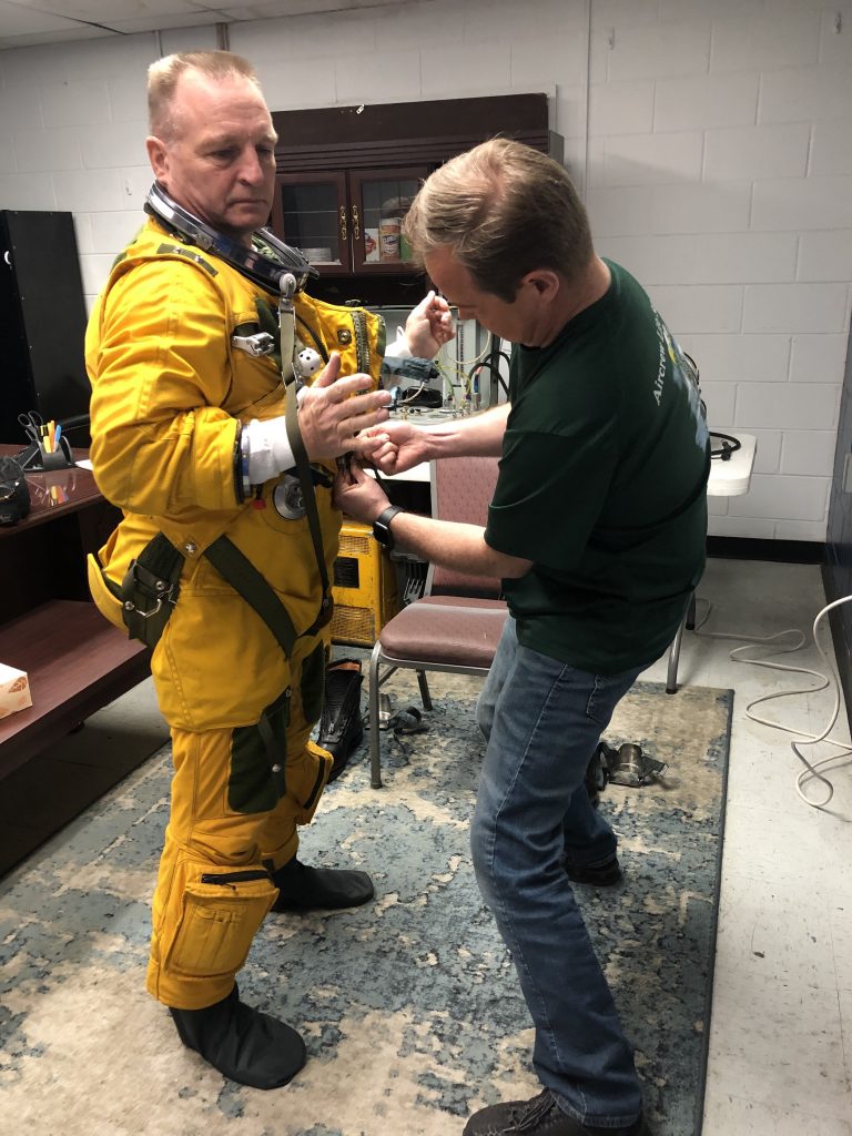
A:
MULTIPOLYGON (((607 741, 640 743, 669 776, 607 786, 626 879, 578 888, 659 1136, 701 1128, 732 699, 641 683, 625 700, 607 741)), ((381 791, 362 746, 304 833, 307 862, 368 868, 377 899, 270 916, 256 939, 241 993, 309 1051, 284 1089, 223 1081, 144 993, 168 749, 0 880, 0 1133, 458 1136, 473 1110, 538 1092, 470 867, 471 711, 457 690, 427 732, 383 734, 381 791)))

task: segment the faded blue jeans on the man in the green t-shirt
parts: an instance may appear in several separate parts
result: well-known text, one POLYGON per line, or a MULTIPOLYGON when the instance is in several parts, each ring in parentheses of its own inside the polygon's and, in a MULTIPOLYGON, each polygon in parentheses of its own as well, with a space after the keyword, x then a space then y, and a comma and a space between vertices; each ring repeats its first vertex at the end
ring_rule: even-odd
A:
POLYGON ((518 643, 506 621, 477 705, 487 741, 470 832, 479 889, 535 1025, 533 1062, 561 1108, 602 1128, 642 1111, 633 1052, 561 862, 605 860, 588 761, 642 668, 592 675, 518 643))

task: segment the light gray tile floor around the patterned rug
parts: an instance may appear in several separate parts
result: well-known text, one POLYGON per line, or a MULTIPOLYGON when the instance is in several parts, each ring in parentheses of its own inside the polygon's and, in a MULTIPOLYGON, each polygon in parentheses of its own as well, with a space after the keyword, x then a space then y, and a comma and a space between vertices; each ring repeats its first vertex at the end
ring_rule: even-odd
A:
MULTIPOLYGON (((699 620, 710 613, 684 636, 679 679, 735 691, 704 1136, 852 1136, 852 766, 829 774, 829 808, 804 803, 793 736, 750 721, 746 705, 816 679, 734 662, 737 641, 705 634, 801 628, 805 648, 780 661, 822 670, 811 637, 820 569, 711 560, 699 598, 699 620)), ((830 651, 827 627, 821 642, 830 651)), ((666 661, 644 677, 665 682, 666 661)), ((833 701, 822 690, 757 712, 815 735, 833 701)), ((83 733, 114 744, 116 727, 132 724, 161 726, 150 680, 83 733)), ((849 738, 845 708, 834 734, 849 738)), ((821 746, 817 758, 836 752, 821 746)))

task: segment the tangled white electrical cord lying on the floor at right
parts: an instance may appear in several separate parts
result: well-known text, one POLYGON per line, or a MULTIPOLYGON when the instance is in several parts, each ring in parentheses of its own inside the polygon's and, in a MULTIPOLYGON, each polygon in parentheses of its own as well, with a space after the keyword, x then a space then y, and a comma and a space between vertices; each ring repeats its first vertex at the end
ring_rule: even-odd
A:
POLYGON ((835 722, 837 721, 837 715, 840 713, 841 709, 841 682, 840 682, 840 675, 837 674, 837 669, 834 665, 834 660, 826 651, 822 650, 819 640, 817 637, 820 620, 824 619, 828 615, 828 612, 832 611, 834 608, 837 608, 843 603, 849 603, 850 601, 852 601, 852 595, 843 596, 840 600, 835 600, 833 603, 826 604, 826 607, 822 608, 822 610, 817 615, 817 618, 813 620, 813 628, 812 628, 813 644, 819 651, 819 653, 822 655, 826 667, 828 668, 830 678, 828 677, 828 675, 824 675, 819 670, 810 670, 807 667, 790 667, 782 662, 768 662, 766 659, 744 659, 741 657, 741 652, 747 651, 749 648, 772 643, 775 640, 783 638, 783 636, 785 635, 795 635, 797 636, 797 638, 795 642, 791 643, 787 646, 776 648, 774 653, 790 654, 793 651, 799 651, 802 646, 804 646, 805 636, 804 633, 797 627, 788 627, 783 632, 776 632, 775 635, 767 635, 765 637, 758 635, 729 635, 726 632, 702 632, 700 630, 700 628, 704 626, 704 624, 710 617, 711 604, 709 603, 708 603, 707 615, 702 619, 701 624, 699 624, 695 627, 695 634, 703 635, 707 638, 727 638, 727 640, 743 641, 744 643, 743 646, 734 648, 734 650, 730 652, 729 658, 734 662, 745 662, 750 663, 752 667, 767 667, 771 670, 786 670, 790 671, 791 674, 812 675, 815 678, 820 679, 818 686, 808 686, 796 691, 776 691, 774 694, 765 694, 759 699, 754 699, 754 701, 750 702, 745 708, 745 716, 746 718, 751 719, 751 721, 757 721, 762 726, 770 726, 772 729, 779 729, 783 730, 785 734, 795 734, 797 736, 799 741, 791 742, 790 745, 791 749, 793 750, 793 753, 795 753, 795 755, 804 765, 805 768, 796 777, 796 783, 795 783, 796 793, 804 801, 805 804, 811 805, 811 808, 813 809, 827 808, 832 797, 834 796, 834 785, 832 785, 828 778, 824 774, 821 774, 820 770, 825 769, 826 766, 833 766, 835 762, 838 761, 840 758, 843 758, 852 753, 852 746, 847 742, 838 742, 829 736, 832 730, 834 729, 835 722), (804 730, 793 729, 791 726, 782 726, 777 721, 770 721, 768 718, 760 718, 758 715, 751 712, 752 709, 757 705, 760 705, 761 702, 769 702, 771 699, 791 698, 794 694, 813 694, 817 691, 825 690, 826 686, 829 686, 832 684, 832 682, 834 683, 834 709, 832 710, 832 716, 828 721, 828 725, 826 726, 826 728, 822 730, 821 734, 816 734, 816 735, 805 734, 804 730), (818 745, 820 742, 826 742, 828 745, 835 745, 840 750, 840 753, 835 753, 830 758, 822 758, 821 761, 810 762, 808 758, 805 758, 805 755, 802 753, 801 746, 818 745), (813 801, 804 792, 805 785, 808 785, 811 780, 818 780, 825 787, 824 800, 813 801))

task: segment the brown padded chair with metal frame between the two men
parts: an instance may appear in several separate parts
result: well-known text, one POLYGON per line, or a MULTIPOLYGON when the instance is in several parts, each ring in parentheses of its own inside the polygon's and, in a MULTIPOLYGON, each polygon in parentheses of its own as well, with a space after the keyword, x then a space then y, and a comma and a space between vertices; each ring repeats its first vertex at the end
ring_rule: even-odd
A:
MULTIPOLYGON (((444 458, 432 463, 432 516, 485 525, 496 484, 496 458, 444 458)), ((378 694, 399 668, 417 671, 425 710, 427 670, 485 675, 506 621, 500 580, 431 565, 424 595, 382 628, 369 663, 370 784, 382 786, 378 694), (384 669, 382 669, 384 668, 384 669)))

